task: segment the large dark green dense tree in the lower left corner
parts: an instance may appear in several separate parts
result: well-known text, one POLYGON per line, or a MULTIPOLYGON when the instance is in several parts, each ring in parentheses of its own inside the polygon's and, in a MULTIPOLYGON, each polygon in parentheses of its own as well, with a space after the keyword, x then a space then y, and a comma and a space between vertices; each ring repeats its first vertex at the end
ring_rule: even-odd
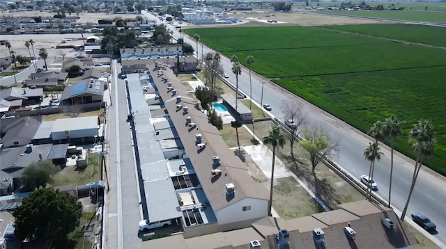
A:
POLYGON ((40 188, 23 198, 17 207, 15 237, 45 243, 51 248, 72 248, 68 234, 79 225, 82 204, 68 193, 40 188))

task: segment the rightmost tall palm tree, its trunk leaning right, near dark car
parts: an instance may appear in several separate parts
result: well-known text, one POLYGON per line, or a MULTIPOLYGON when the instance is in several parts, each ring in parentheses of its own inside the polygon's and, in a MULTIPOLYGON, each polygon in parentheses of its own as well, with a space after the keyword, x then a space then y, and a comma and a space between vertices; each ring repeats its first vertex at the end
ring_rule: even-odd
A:
POLYGON ((433 153, 433 144, 435 143, 433 124, 429 120, 420 120, 410 130, 410 140, 415 140, 413 147, 417 153, 415 159, 415 168, 413 170, 412 184, 410 184, 410 191, 407 198, 406 205, 404 206, 403 213, 401 214, 401 220, 404 220, 406 212, 409 206, 410 197, 412 197, 413 189, 417 183, 418 173, 423 164, 424 156, 429 156, 433 153))

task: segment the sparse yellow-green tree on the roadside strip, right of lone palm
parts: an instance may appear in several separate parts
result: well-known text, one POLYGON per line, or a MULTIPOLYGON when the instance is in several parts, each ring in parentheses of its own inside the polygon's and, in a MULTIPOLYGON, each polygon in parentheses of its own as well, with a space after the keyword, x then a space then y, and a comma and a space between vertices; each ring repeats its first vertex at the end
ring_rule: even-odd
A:
POLYGON ((318 163, 322 159, 327 159, 332 152, 339 152, 339 143, 325 136, 322 126, 314 129, 306 128, 302 131, 302 136, 304 140, 300 141, 300 146, 308 152, 312 174, 316 177, 315 169, 318 163))

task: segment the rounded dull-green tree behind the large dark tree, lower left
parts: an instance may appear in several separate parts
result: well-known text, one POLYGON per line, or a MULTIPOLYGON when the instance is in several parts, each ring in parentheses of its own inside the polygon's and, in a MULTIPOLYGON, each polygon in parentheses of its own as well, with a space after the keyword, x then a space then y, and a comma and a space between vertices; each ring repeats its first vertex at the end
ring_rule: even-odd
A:
POLYGON ((31 163, 25 168, 22 175, 22 186, 26 191, 33 191, 36 188, 45 188, 52 183, 52 176, 58 170, 50 160, 31 163))

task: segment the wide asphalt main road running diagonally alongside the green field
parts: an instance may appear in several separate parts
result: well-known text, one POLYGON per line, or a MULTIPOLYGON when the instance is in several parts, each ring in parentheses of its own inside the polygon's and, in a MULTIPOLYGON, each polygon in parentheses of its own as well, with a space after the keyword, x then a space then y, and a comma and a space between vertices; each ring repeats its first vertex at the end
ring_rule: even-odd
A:
MULTIPOLYGON (((149 19, 155 19, 153 15, 144 13, 149 19)), ((160 24, 160 20, 157 20, 157 24, 160 24)), ((174 26, 167 24, 167 28, 174 31, 174 37, 180 38, 180 33, 174 26)), ((184 34, 183 34, 184 35, 184 34)), ((195 48, 195 40, 185 36, 184 41, 190 43, 195 48)), ((201 44, 199 43, 198 57, 201 58, 201 54, 206 56, 208 52, 213 52, 206 46, 203 46, 203 52, 201 51, 201 44)), ((246 58, 238 58, 240 61, 246 58)), ((254 58, 255 63, 255 58, 254 58)), ((222 57, 220 63, 224 73, 229 74, 229 81, 235 85, 236 77, 231 72, 232 64, 229 58, 222 57)), ((289 93, 287 90, 270 83, 267 79, 261 77, 258 74, 252 73, 252 99, 261 103, 261 92, 263 84, 263 104, 268 103, 272 106, 272 115, 284 120, 284 113, 281 111, 281 107, 285 102, 297 102, 302 106, 302 110, 307 113, 307 120, 310 125, 322 124, 324 130, 328 136, 339 139, 339 156, 333 157, 333 161, 344 168, 353 177, 359 178, 360 175, 368 175, 369 173, 369 161, 366 161, 363 156, 363 152, 371 138, 361 131, 351 127, 342 120, 335 118, 334 116, 318 109, 316 106, 309 104, 303 99, 300 99, 296 95, 289 93)), ((245 94, 249 94, 249 71, 243 67, 242 74, 238 77, 238 86, 245 94)), ((381 157, 381 161, 376 162, 374 180, 378 184, 379 195, 384 200, 388 200, 389 182, 390 182, 390 148, 386 145, 381 145, 381 152, 384 155, 381 157)), ((410 182, 412 179, 413 168, 415 161, 400 154, 394 153, 394 177, 392 182, 392 205, 398 213, 402 211, 406 204, 410 182)), ((446 178, 438 175, 429 168, 423 167, 420 170, 420 175, 417 179, 417 184, 413 192, 410 204, 408 207, 408 213, 406 220, 410 220, 410 214, 412 212, 420 211, 431 220, 436 223, 438 234, 434 235, 434 239, 438 239, 446 244, 446 178)), ((446 247, 446 246, 445 246, 446 247)))

